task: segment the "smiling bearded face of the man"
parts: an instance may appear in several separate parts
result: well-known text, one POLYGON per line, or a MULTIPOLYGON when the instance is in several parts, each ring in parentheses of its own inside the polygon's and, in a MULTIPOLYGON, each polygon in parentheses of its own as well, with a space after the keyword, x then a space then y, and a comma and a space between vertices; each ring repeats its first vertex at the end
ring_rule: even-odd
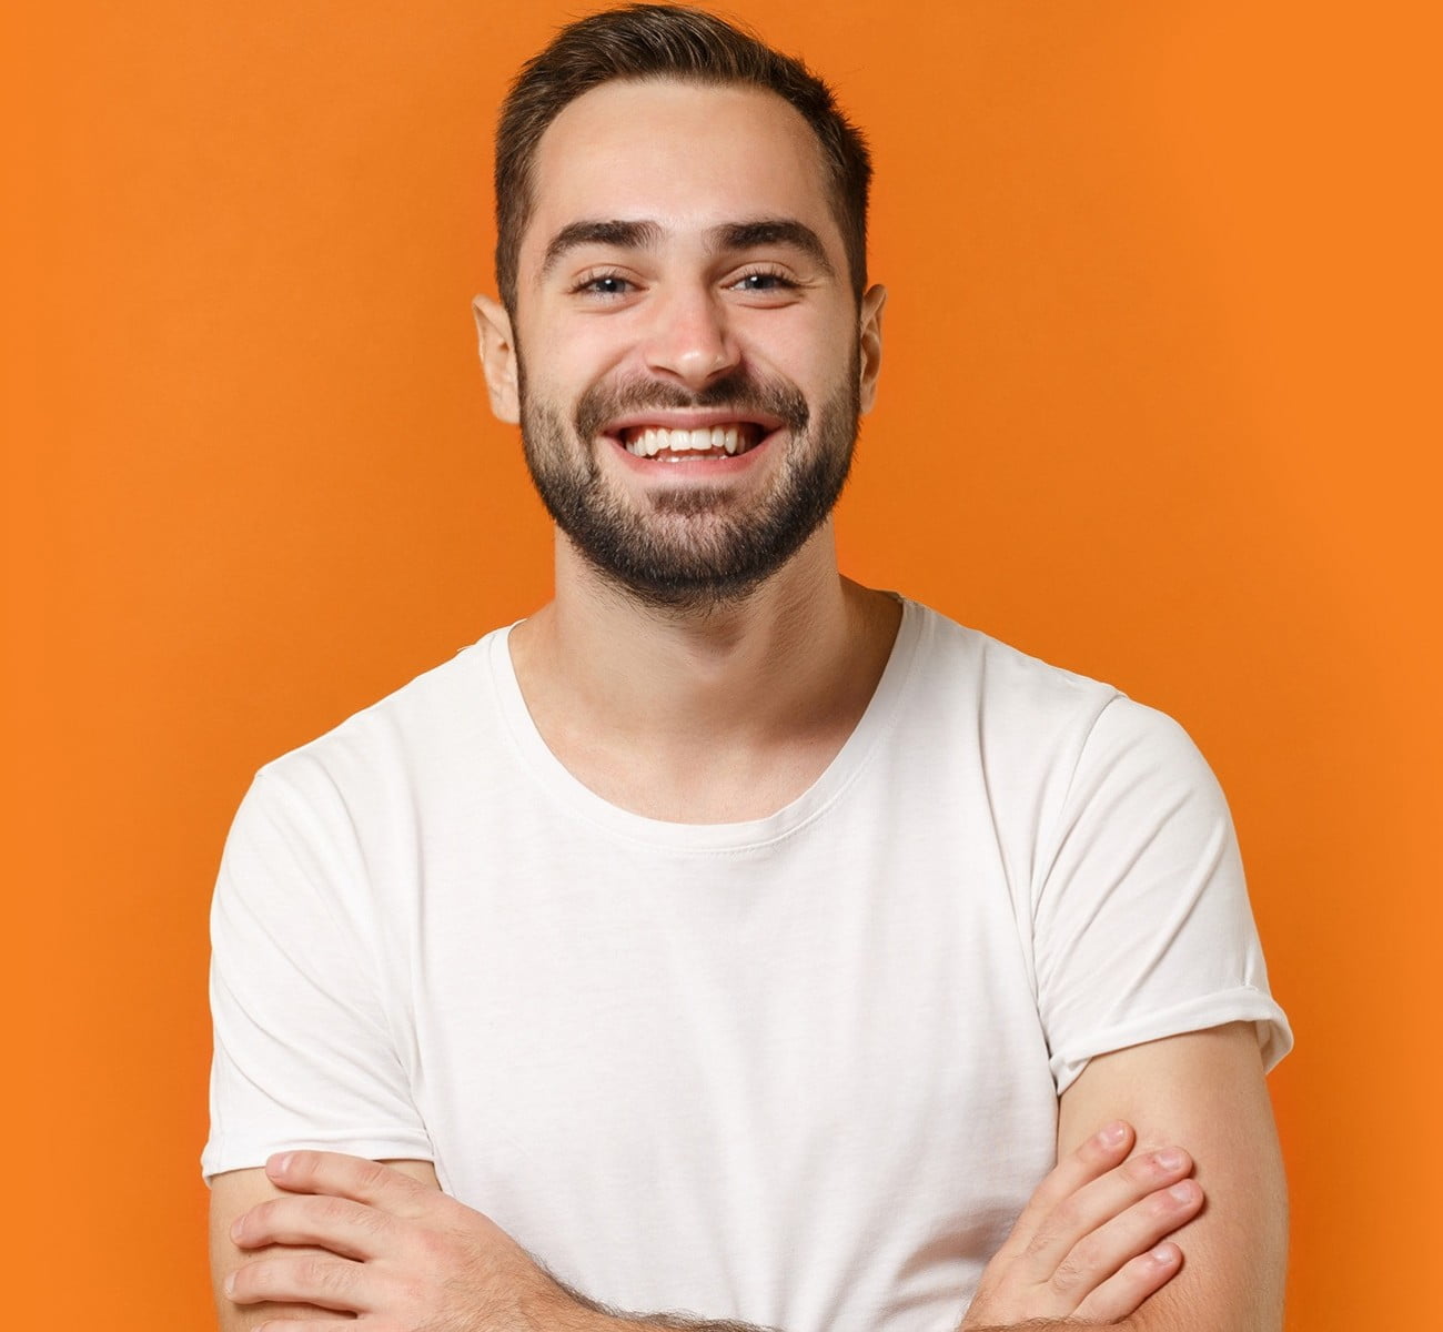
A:
POLYGON ((771 92, 615 82, 534 182, 511 341, 547 508, 651 603, 745 595, 835 504, 876 372, 811 128, 771 92))

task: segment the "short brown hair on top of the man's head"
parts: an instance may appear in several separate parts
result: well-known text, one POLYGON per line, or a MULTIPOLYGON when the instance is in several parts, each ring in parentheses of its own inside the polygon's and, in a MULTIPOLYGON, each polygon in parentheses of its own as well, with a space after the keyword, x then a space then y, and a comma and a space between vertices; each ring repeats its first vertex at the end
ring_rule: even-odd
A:
POLYGON ((583 92, 615 79, 753 84, 784 98, 817 136, 857 300, 867 286, 872 157, 831 89, 801 61, 724 19, 674 4, 628 4, 563 27, 521 66, 496 128, 496 286, 517 307, 521 234, 531 221, 537 144, 583 92))

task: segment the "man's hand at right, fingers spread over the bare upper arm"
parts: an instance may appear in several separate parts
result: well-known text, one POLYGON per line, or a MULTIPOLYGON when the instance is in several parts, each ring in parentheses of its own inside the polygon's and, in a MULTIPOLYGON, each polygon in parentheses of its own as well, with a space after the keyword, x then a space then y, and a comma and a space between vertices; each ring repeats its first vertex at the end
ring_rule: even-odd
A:
POLYGON ((1177 1274, 1182 1250, 1159 1241, 1198 1215, 1202 1188, 1186 1152, 1128 1157, 1134 1142, 1128 1124, 1108 1124, 1058 1163, 983 1271, 960 1332, 1114 1323, 1177 1274))

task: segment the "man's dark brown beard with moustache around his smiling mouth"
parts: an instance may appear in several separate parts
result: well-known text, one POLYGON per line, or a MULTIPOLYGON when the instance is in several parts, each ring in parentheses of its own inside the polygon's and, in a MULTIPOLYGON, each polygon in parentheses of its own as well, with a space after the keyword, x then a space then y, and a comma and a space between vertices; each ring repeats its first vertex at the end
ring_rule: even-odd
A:
POLYGON ((593 384, 567 424, 527 393, 522 369, 527 466, 547 511, 606 582, 671 612, 734 605, 797 554, 841 496, 857 440, 859 371, 860 348, 853 348, 847 377, 815 421, 794 384, 737 369, 700 394, 655 380, 593 384), (687 485, 659 489, 639 507, 606 482, 593 446, 606 421, 646 408, 714 407, 784 423, 786 455, 765 495, 687 485))

